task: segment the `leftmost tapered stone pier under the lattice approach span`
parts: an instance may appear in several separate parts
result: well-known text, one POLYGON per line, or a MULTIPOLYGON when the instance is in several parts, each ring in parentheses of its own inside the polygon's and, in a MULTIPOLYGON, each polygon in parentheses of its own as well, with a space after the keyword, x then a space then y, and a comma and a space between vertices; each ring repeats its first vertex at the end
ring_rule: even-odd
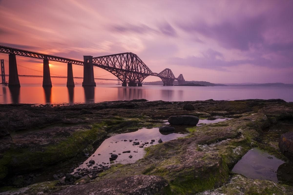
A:
POLYGON ((9 54, 9 80, 8 80, 8 87, 20 87, 15 54, 9 54))

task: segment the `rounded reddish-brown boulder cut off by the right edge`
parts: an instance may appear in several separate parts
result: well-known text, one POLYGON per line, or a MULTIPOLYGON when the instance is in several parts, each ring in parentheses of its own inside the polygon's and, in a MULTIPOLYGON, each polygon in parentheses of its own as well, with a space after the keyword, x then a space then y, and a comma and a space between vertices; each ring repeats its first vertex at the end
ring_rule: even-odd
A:
POLYGON ((280 151, 293 162, 293 132, 284 133, 279 141, 280 151))

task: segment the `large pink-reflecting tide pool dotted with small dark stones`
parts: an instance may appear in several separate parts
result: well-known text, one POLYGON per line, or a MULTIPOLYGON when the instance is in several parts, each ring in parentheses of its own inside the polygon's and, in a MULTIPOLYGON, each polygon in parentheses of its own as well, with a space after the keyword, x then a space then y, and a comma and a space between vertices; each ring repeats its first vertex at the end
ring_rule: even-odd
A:
POLYGON ((113 135, 108 139, 105 139, 95 151, 95 153, 93 153, 83 164, 81 164, 79 168, 86 168, 87 163, 90 160, 94 160, 95 164, 102 164, 104 166, 109 165, 109 158, 111 157, 111 153, 118 155, 115 163, 134 163, 144 156, 145 147, 159 144, 159 139, 164 142, 176 139, 178 137, 184 137, 186 133, 186 130, 185 132, 178 132, 176 130, 174 132, 160 132, 159 128, 143 128, 135 132, 113 135), (155 141, 153 144, 150 144, 152 139, 155 141), (149 142, 149 144, 145 144, 143 148, 140 148, 139 145, 133 145, 134 141, 139 142, 139 144, 143 144, 145 142, 149 142), (123 153, 123 151, 130 152, 123 153), (131 158, 129 157, 130 155, 132 156, 131 158))

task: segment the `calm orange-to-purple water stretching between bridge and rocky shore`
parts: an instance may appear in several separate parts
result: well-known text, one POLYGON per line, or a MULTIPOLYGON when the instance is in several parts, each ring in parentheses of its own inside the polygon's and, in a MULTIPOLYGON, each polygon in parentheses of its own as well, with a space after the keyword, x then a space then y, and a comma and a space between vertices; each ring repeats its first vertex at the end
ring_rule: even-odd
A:
POLYGON ((118 85, 82 87, 76 85, 74 88, 67 88, 65 85, 54 85, 52 88, 43 88, 39 84, 22 84, 20 88, 0 87, 0 103, 61 104, 132 99, 149 101, 283 99, 288 102, 293 101, 293 87, 122 87, 118 85))

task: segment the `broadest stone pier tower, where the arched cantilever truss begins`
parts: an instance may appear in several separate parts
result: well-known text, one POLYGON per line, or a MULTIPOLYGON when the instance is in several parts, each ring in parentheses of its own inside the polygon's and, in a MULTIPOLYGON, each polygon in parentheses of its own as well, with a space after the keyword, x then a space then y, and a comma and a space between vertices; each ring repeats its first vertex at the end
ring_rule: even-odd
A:
POLYGON ((93 56, 84 56, 84 81, 82 86, 96 87, 93 76, 93 56))

